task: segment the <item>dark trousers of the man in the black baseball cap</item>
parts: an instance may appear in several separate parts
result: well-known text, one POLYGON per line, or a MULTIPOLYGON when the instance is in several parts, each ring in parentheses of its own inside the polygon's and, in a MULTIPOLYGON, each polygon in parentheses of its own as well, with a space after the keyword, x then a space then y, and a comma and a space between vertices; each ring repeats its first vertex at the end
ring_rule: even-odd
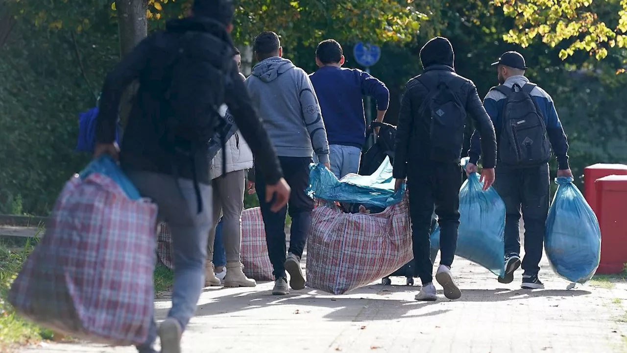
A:
POLYGON ((505 202, 505 255, 520 254, 520 211, 525 222, 525 274, 540 271, 545 223, 549 213, 549 165, 497 166, 494 188, 505 202))

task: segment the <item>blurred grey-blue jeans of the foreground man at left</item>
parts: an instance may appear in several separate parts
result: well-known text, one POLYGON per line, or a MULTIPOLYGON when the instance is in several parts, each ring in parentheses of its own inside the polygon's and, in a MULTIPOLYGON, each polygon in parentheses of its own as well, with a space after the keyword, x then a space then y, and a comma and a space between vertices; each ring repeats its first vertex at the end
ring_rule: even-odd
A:
MULTIPOLYGON (((175 318, 183 330, 194 316, 204 287, 207 234, 211 227, 211 186, 200 184, 203 211, 197 212, 196 192, 191 180, 147 171, 126 171, 142 197, 159 206, 159 220, 167 222, 172 233, 174 288, 172 308, 167 317, 175 318)), ((155 237, 155 241, 156 241, 155 237)), ((137 347, 141 353, 154 353, 157 324, 150 324, 146 342, 137 347)))

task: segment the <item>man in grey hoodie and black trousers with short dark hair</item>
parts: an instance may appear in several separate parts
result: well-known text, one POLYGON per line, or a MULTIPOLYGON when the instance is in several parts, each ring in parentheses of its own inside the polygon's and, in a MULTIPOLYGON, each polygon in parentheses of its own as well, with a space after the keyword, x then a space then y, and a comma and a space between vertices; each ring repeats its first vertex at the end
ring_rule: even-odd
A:
MULTIPOLYGON (((250 97, 258 107, 261 120, 277 149, 285 179, 292 188, 289 212, 292 217, 290 249, 285 257, 285 214, 282 209, 274 214, 270 204, 260 196, 261 214, 265 223, 268 255, 274 268, 275 295, 288 293, 287 276, 294 290, 305 288, 305 278, 300 269, 307 234, 311 224, 314 200, 305 189, 309 185, 309 165, 312 154, 329 168, 329 143, 320 114, 314 87, 301 68, 282 58, 283 48, 277 33, 263 32, 255 38, 255 57, 259 61, 246 79, 250 97), (313 148, 312 148, 313 147, 313 148)), ((255 170, 265 165, 255 160, 255 170)), ((256 190, 263 190, 263 180, 256 180, 256 190)))

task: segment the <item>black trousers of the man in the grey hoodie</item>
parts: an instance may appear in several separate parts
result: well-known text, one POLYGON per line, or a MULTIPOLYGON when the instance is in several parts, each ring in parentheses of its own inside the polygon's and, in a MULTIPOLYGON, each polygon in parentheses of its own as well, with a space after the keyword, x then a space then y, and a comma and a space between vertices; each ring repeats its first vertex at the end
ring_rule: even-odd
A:
POLYGON ((299 258, 303 255, 307 235, 309 234, 314 209, 314 200, 307 196, 305 189, 309 186, 309 165, 311 158, 279 157, 283 176, 292 193, 286 207, 279 212, 272 212, 271 202, 266 202, 265 183, 263 178, 257 178, 256 191, 261 207, 261 216, 266 231, 266 243, 268 244, 268 256, 274 268, 275 278, 286 277, 285 274, 285 215, 287 212, 292 217, 290 229, 290 253, 299 258))

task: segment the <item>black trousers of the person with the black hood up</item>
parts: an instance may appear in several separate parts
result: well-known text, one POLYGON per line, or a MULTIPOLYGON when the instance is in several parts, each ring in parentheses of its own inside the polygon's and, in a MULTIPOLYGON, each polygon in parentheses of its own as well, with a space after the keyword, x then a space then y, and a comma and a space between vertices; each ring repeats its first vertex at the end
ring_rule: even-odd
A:
POLYGON ((433 281, 429 259, 431 215, 440 224, 440 264, 451 266, 460 225, 461 166, 453 162, 414 161, 408 166, 409 215, 413 232, 414 262, 423 285, 433 281))

